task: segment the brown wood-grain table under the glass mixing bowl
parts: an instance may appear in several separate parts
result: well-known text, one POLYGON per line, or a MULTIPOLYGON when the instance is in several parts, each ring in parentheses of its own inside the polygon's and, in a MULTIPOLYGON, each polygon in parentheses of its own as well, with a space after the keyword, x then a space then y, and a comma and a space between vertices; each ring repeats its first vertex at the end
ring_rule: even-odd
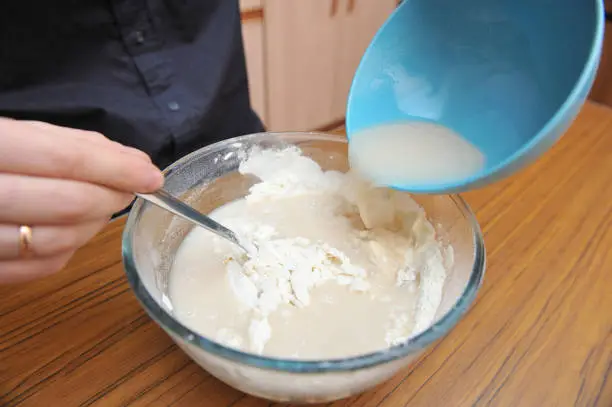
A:
MULTIPOLYGON (((612 406, 612 110, 587 104, 537 164, 466 195, 488 270, 450 335, 333 406, 612 406)), ((124 278, 123 221, 62 273, 0 287, 2 406, 266 406, 194 365, 124 278)))

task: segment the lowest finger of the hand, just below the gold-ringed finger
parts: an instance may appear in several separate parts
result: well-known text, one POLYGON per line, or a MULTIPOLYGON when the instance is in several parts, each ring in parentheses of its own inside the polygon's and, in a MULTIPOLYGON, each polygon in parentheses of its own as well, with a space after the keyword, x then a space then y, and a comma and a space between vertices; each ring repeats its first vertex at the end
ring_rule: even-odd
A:
POLYGON ((28 260, 0 261, 0 284, 22 283, 56 273, 66 266, 74 253, 28 260))

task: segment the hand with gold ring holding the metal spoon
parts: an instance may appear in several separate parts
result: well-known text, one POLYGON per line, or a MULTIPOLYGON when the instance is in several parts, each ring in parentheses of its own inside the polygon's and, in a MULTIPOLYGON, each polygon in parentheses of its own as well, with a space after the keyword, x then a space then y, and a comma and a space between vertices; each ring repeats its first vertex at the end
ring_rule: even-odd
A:
POLYGON ((162 185, 148 155, 99 133, 0 118, 0 283, 59 271, 133 193, 162 185))

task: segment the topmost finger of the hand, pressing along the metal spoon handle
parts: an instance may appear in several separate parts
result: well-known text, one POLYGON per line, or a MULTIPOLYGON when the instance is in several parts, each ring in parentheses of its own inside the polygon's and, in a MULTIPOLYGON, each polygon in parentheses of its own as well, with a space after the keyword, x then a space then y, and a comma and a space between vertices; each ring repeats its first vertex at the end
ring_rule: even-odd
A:
POLYGON ((126 192, 152 192, 163 184, 157 167, 112 145, 93 145, 16 120, 0 122, 0 137, 0 172, 86 181, 126 192))

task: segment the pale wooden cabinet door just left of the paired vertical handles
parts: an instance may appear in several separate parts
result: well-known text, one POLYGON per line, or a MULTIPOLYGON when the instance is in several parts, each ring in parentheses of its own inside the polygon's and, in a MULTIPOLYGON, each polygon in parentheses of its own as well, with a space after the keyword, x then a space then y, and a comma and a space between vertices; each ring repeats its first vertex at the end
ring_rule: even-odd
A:
POLYGON ((264 0, 270 130, 312 130, 337 119, 339 12, 339 0, 264 0))

